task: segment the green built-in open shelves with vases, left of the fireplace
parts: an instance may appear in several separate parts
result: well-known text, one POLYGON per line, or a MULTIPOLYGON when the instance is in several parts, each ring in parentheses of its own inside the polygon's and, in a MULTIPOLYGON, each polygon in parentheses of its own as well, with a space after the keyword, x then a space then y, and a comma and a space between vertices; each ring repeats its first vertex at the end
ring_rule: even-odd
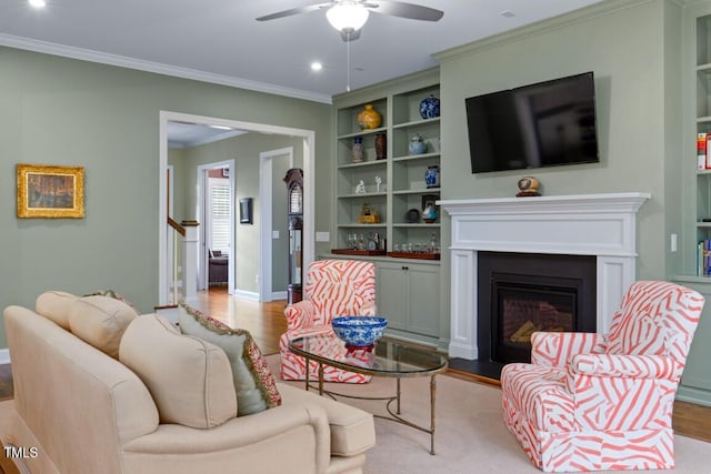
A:
POLYGON ((364 239, 375 233, 385 239, 387 250, 401 250, 407 245, 420 249, 431 246, 432 240, 439 246, 440 219, 425 223, 421 218, 412 222, 408 211, 415 209, 420 213, 425 201, 440 198, 439 188, 428 189, 424 173, 429 167, 440 165, 440 119, 422 119, 420 102, 430 94, 439 97, 439 75, 431 74, 429 81, 414 88, 408 85, 392 88, 382 97, 364 98, 360 95, 342 97, 336 105, 336 232, 332 241, 334 249, 349 246, 349 235, 364 233, 364 239), (430 82, 430 83, 427 83, 430 82), (372 130, 361 130, 358 114, 365 104, 372 104, 382 115, 382 123, 372 130), (409 144, 414 134, 419 134, 427 144, 427 152, 411 154, 409 144), (378 160, 375 139, 383 135, 387 140, 387 155, 378 160), (352 161, 356 139, 362 140, 364 161, 352 161), (377 178, 380 185, 377 184, 377 178), (359 183, 363 183, 364 193, 357 193, 359 183), (379 215, 379 223, 359 223, 363 204, 371 206, 379 215))

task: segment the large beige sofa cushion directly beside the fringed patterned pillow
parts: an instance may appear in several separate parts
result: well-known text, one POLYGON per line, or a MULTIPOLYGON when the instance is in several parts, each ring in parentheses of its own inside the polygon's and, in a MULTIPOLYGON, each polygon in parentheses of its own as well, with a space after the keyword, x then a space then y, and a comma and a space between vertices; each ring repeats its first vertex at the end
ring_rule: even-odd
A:
POLYGON ((237 416, 230 363, 220 347, 180 334, 164 317, 131 322, 119 360, 143 381, 161 423, 210 428, 237 416))

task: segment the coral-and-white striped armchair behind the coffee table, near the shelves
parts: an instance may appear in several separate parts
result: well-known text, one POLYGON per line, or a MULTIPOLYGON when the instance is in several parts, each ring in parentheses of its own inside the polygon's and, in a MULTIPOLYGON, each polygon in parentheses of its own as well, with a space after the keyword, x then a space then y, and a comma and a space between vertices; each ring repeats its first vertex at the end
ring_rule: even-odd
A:
MULTIPOLYGON (((281 377, 303 380, 307 369, 303 357, 289 351, 289 341, 308 334, 331 332, 336 316, 374 316, 375 265, 353 260, 318 260, 309 265, 303 301, 284 309, 287 332, 279 339, 281 377)), ((318 377, 318 364, 310 364, 310 377, 318 377)), ((370 377, 324 366, 327 382, 364 383, 370 377)))

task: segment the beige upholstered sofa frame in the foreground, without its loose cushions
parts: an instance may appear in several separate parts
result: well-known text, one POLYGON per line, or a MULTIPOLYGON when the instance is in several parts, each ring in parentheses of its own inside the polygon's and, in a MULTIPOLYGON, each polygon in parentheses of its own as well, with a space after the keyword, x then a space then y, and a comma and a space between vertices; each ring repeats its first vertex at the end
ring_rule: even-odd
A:
POLYGON ((72 327, 20 306, 3 314, 16 407, 3 443, 37 450, 21 472, 359 473, 374 445, 372 415, 282 383, 280 406, 208 428, 162 423, 137 373, 72 327))

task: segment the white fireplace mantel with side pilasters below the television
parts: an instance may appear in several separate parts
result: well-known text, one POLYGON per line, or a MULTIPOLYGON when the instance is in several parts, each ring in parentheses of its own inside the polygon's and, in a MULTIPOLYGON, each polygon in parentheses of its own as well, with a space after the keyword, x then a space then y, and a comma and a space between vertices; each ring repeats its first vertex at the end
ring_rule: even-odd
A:
POLYGON ((477 253, 597 256, 598 331, 635 278, 637 211, 648 193, 438 201, 451 215, 449 355, 477 360, 477 253))

